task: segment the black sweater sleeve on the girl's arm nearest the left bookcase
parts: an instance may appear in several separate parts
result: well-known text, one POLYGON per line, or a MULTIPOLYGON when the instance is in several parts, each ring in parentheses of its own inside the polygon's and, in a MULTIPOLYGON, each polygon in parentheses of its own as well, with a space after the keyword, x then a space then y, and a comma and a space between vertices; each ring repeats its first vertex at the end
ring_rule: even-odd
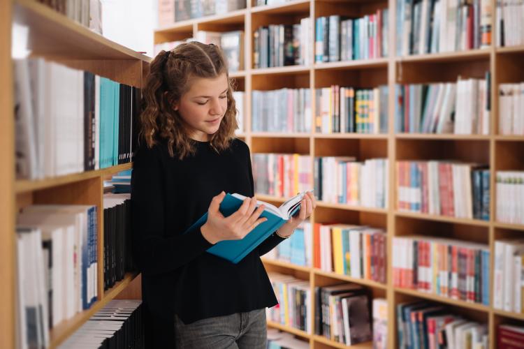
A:
POLYGON ((212 246, 200 229, 166 237, 166 193, 159 153, 157 147, 142 149, 135 158, 131 174, 133 255, 140 271, 150 275, 171 272, 212 246))

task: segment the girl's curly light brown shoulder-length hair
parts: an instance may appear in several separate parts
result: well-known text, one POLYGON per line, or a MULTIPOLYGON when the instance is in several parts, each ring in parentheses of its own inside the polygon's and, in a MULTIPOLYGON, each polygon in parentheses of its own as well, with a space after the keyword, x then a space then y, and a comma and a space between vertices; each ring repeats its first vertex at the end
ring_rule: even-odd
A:
POLYGON ((195 153, 194 142, 186 130, 173 103, 189 91, 194 77, 214 78, 225 73, 228 80, 227 109, 219 131, 212 135, 210 144, 220 152, 227 149, 234 138, 237 110, 233 99, 234 80, 228 76, 224 54, 216 45, 183 43, 171 51, 161 51, 150 65, 143 90, 143 112, 140 114, 139 139, 153 147, 160 139, 167 140, 171 157, 180 159, 195 153))

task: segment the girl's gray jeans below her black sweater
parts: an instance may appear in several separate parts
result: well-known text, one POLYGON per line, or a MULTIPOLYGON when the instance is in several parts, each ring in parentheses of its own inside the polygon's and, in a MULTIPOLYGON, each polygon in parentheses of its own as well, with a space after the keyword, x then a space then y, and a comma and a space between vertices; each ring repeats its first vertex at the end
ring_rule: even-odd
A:
POLYGON ((265 308, 207 318, 188 325, 175 315, 178 349, 265 349, 267 336, 265 308))

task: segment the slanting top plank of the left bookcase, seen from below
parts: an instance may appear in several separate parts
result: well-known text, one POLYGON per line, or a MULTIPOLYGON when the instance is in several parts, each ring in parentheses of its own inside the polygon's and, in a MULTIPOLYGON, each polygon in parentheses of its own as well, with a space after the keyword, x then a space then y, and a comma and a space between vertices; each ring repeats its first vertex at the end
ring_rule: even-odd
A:
POLYGON ((151 58, 119 45, 34 0, 15 0, 13 21, 29 27, 29 50, 59 59, 151 58))

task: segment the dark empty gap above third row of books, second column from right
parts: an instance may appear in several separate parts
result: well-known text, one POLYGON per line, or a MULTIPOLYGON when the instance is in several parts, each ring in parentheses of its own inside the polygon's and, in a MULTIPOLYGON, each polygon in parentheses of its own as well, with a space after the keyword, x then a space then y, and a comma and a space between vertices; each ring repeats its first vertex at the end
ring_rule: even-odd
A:
POLYGON ((489 140, 396 140, 398 161, 457 160, 467 163, 490 163, 489 140))

